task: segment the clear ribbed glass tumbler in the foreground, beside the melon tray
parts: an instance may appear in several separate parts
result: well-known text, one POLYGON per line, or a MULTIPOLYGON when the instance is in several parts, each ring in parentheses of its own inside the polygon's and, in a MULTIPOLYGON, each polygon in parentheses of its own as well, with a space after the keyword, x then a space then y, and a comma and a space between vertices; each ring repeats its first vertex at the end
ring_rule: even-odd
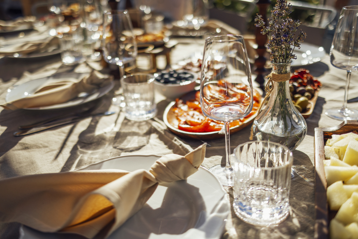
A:
POLYGON ((254 225, 272 225, 289 215, 292 152, 279 143, 251 141, 234 149, 233 208, 254 225))

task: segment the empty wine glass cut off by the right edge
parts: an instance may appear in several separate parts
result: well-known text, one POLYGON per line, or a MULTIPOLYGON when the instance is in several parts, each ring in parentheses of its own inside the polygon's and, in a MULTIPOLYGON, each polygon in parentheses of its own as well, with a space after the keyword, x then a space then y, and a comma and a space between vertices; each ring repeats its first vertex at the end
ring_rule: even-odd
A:
POLYGON ((329 52, 331 64, 347 71, 344 102, 342 107, 326 111, 326 115, 336 120, 358 120, 358 110, 347 108, 350 74, 358 70, 358 6, 346 6, 340 12, 329 52))

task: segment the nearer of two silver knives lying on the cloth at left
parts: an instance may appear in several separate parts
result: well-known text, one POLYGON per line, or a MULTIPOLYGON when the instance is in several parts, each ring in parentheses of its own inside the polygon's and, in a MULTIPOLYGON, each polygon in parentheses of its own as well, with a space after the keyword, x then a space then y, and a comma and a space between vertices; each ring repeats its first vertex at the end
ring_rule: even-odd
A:
POLYGON ((81 121, 83 119, 87 119, 87 118, 96 118, 96 117, 101 117, 101 116, 106 116, 106 115, 112 115, 115 114, 116 112, 114 111, 106 111, 105 113, 100 113, 100 114, 95 114, 95 115, 88 115, 88 116, 84 116, 84 117, 77 117, 77 118, 73 118, 73 119, 69 119, 69 120, 65 120, 65 121, 61 121, 58 123, 51 123, 51 124, 45 124, 45 125, 40 125, 40 126, 36 126, 30 129, 24 129, 24 130, 20 130, 14 133, 14 136, 18 137, 18 136, 22 136, 22 135, 26 135, 26 134, 32 134, 35 132, 39 132, 45 129, 51 129, 60 125, 65 125, 65 124, 71 124, 74 122, 78 122, 81 121))

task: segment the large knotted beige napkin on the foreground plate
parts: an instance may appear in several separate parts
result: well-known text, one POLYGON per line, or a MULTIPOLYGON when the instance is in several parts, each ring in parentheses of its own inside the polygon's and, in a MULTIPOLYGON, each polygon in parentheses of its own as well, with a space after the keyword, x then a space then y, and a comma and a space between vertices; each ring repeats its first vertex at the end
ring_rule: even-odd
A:
POLYGON ((141 209, 158 182, 184 180, 197 172, 205 148, 206 143, 184 157, 162 156, 149 171, 102 169, 1 180, 0 221, 106 237, 141 209))

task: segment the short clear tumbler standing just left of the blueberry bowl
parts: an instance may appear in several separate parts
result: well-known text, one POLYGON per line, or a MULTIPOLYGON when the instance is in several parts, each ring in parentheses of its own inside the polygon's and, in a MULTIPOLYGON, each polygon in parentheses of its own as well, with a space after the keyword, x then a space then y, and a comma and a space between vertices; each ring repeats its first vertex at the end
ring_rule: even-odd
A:
POLYGON ((121 78, 127 119, 142 121, 153 118, 156 113, 154 101, 154 76, 135 73, 121 78))

